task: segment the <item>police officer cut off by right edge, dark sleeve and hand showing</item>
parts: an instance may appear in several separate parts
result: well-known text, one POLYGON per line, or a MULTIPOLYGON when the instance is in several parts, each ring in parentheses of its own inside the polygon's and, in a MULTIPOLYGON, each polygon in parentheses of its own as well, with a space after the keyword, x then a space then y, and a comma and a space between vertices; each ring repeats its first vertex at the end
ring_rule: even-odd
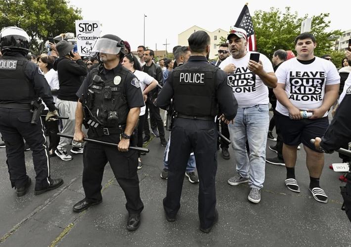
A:
MULTIPOLYGON (((350 76, 349 76, 350 78, 350 76)), ((345 89, 344 89, 345 90, 345 89)), ((335 116, 325 131, 322 138, 316 137, 315 147, 324 153, 331 153, 343 146, 348 146, 351 141, 351 86, 346 89, 343 101, 340 103, 335 116)), ((351 167, 350 167, 351 168, 351 167)), ((351 172, 347 175, 348 182, 341 188, 344 198, 343 209, 351 221, 351 172)))

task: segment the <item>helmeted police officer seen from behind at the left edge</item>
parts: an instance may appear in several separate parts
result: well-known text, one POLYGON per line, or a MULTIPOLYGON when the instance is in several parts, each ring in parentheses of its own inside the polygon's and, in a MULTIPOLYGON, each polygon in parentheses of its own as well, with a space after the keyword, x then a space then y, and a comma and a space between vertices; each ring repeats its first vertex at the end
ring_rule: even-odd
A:
POLYGON ((31 41, 27 33, 17 27, 6 27, 0 33, 0 132, 6 145, 8 172, 17 196, 24 196, 31 184, 24 163, 24 142, 33 151, 37 173, 35 195, 62 185, 62 179, 50 177, 50 162, 43 124, 32 120, 31 102, 41 97, 49 108, 46 120, 57 116, 51 90, 35 63, 26 59, 31 41), (33 122, 33 124, 31 124, 33 122))

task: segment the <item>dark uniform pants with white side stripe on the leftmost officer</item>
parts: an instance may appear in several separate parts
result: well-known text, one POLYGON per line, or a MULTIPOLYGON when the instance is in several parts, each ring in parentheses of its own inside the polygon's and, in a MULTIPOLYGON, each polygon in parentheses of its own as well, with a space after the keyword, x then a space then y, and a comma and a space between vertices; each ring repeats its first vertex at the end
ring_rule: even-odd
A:
POLYGON ((24 162, 23 138, 32 150, 36 188, 49 185, 50 160, 42 121, 31 124, 29 110, 0 108, 0 132, 6 144, 8 172, 12 187, 23 187, 28 176, 24 162))

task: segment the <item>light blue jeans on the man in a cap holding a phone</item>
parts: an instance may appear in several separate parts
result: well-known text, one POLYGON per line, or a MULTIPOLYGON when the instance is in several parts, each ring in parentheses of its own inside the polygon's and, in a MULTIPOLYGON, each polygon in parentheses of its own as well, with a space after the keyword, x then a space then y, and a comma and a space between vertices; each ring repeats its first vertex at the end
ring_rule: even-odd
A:
POLYGON ((235 154, 236 171, 249 177, 251 188, 263 188, 265 145, 269 125, 268 104, 238 108, 234 124, 228 124, 235 154), (246 150, 249 142, 250 154, 246 150))

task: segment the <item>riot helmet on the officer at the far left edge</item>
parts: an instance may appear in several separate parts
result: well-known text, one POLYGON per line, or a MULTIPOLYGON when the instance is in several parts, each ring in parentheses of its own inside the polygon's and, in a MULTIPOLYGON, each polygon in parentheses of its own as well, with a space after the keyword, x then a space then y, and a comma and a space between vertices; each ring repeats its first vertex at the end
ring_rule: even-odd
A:
POLYGON ((28 34, 18 27, 6 27, 0 33, 1 52, 21 51, 27 55, 31 47, 31 40, 28 34))

